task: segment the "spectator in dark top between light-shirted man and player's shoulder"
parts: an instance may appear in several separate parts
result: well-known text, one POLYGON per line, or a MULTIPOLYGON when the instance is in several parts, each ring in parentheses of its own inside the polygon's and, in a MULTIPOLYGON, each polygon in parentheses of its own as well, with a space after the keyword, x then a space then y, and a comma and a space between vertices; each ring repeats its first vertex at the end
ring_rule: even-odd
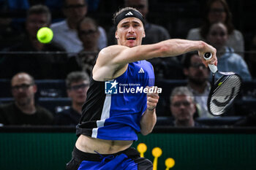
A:
POLYGON ((78 37, 83 42, 83 50, 73 55, 67 62, 67 72, 83 71, 91 74, 94 61, 99 53, 97 42, 99 39, 98 25, 92 18, 83 18, 78 23, 78 37))

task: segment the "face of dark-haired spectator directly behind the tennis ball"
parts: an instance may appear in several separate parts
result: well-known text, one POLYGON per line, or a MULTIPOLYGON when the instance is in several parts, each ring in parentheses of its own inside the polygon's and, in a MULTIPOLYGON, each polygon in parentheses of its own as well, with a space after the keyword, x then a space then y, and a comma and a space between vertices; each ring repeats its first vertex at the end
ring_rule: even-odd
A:
POLYGON ((26 19, 26 31, 33 38, 37 37, 39 28, 44 26, 49 26, 48 18, 45 14, 32 14, 26 19))

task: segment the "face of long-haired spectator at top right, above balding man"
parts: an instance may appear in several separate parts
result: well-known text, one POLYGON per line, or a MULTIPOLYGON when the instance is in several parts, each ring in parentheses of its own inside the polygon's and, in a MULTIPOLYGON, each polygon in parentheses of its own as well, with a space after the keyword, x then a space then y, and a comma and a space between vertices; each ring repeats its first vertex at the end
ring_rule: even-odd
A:
POLYGON ((227 13, 225 12, 225 8, 222 3, 219 1, 215 1, 211 4, 211 9, 208 13, 208 20, 210 23, 225 23, 227 18, 227 13))

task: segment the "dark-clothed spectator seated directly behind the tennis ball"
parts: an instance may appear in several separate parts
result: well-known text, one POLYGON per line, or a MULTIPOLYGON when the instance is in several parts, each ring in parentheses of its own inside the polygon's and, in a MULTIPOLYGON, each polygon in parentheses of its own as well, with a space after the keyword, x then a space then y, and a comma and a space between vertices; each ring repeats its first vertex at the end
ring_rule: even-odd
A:
MULTIPOLYGON (((55 52, 64 51, 54 43, 42 44, 37 40, 37 31, 39 28, 50 26, 50 11, 48 7, 36 5, 29 9, 26 18, 27 36, 23 42, 10 47, 10 52, 55 52)), ((64 69, 64 63, 67 62, 65 55, 53 54, 14 54, 6 55, 2 64, 1 78, 10 79, 12 75, 18 72, 27 72, 35 79, 56 79, 64 78, 61 72, 64 69)))

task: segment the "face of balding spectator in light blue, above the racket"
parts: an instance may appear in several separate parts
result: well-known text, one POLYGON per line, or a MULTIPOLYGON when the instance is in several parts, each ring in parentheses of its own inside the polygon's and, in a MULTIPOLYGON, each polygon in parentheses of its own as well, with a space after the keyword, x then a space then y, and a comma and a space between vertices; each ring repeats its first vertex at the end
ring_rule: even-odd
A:
POLYGON ((214 46, 217 50, 222 49, 227 42, 227 28, 222 23, 215 23, 211 26, 207 36, 210 45, 214 46))

